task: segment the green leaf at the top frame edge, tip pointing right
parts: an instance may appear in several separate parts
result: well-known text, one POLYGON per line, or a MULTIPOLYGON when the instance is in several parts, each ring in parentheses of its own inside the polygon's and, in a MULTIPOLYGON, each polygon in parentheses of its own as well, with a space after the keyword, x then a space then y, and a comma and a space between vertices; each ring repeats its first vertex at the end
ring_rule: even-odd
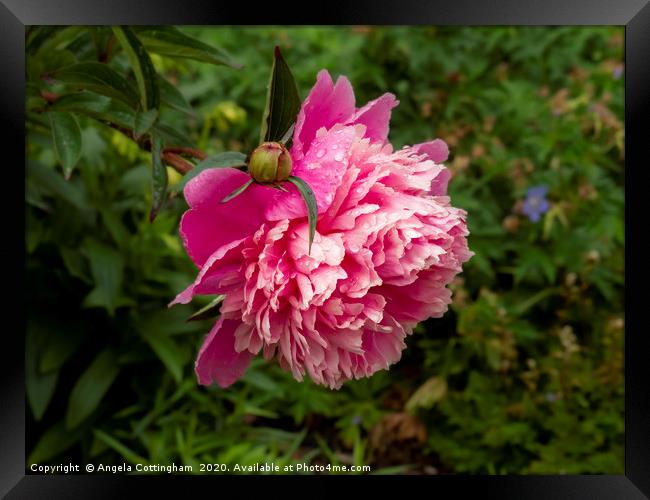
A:
POLYGON ((135 31, 147 50, 156 54, 194 59, 237 69, 243 67, 223 50, 189 37, 172 26, 141 27, 136 28, 135 31))

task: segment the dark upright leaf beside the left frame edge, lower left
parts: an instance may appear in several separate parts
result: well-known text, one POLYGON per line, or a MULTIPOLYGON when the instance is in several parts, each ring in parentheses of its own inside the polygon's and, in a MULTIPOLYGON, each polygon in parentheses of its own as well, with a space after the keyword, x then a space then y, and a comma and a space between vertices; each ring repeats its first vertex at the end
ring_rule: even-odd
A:
POLYGON ((29 322, 25 343, 25 385, 27 401, 34 418, 39 421, 43 417, 59 379, 59 371, 43 372, 39 370, 39 359, 47 342, 49 332, 44 325, 29 322))

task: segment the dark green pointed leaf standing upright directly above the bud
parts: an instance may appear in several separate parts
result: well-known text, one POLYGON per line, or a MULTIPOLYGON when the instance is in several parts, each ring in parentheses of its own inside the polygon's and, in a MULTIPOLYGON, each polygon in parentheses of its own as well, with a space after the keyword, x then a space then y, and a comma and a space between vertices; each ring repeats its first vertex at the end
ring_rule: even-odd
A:
POLYGON ((291 70, 282 57, 280 47, 275 47, 266 107, 262 117, 260 143, 281 141, 300 111, 300 96, 291 70))

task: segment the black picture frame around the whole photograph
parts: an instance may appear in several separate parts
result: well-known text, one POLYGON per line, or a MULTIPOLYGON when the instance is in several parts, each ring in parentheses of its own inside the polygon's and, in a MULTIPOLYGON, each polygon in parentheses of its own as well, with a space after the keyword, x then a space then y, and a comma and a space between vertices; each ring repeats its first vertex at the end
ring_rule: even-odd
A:
MULTIPOLYGON (((437 25, 619 25, 625 26, 625 222, 626 222, 626 342, 625 342, 625 475, 581 476, 400 476, 344 477, 348 485, 389 480, 415 481, 430 494, 447 498, 473 492, 475 495, 509 499, 588 498, 641 499, 650 496, 650 363, 645 359, 649 342, 643 329, 645 287, 648 283, 642 244, 643 189, 648 184, 645 120, 650 116, 650 4, 648 0, 490 0, 454 2, 400 0, 310 2, 309 8, 283 3, 280 7, 222 3, 208 0, 2 0, 0 2, 0 99, 6 177, 2 214, 5 238, 2 245, 9 282, 3 299, 5 319, 0 347, 0 495, 6 498, 115 498, 152 495, 164 489, 167 495, 187 495, 186 482, 211 481, 208 477, 123 475, 25 475, 25 377, 24 331, 26 314, 24 276, 17 262, 25 262, 24 217, 16 218, 24 206, 25 127, 24 75, 27 25, 226 25, 226 24, 437 24, 437 25), (299 14, 303 13, 303 14, 299 14), (11 222, 7 224, 7 220, 11 222), (18 221, 18 222, 16 222, 18 221), (630 265, 632 263, 632 265, 630 265), (630 271, 631 270, 631 271, 630 271), (18 311, 23 311, 23 314, 18 311), (11 325, 11 326, 10 326, 11 325)), ((23 266, 24 267, 24 266, 23 266)), ((224 477, 214 476, 209 488, 225 493, 225 482, 249 488, 271 486, 275 481, 298 480, 310 488, 312 477, 224 477)), ((329 478, 325 478, 329 480, 329 478)), ((232 485, 230 485, 232 486, 232 485)), ((360 485, 354 485, 359 487, 360 485)), ((278 494, 285 489, 275 490, 278 494)), ((246 490, 241 490, 246 491, 246 490)), ((400 490, 402 494, 410 490, 400 490)), ((311 494, 313 490, 305 490, 311 494)), ((408 494, 408 493, 407 493, 408 494)), ((284 496, 284 494, 283 494, 284 496)))

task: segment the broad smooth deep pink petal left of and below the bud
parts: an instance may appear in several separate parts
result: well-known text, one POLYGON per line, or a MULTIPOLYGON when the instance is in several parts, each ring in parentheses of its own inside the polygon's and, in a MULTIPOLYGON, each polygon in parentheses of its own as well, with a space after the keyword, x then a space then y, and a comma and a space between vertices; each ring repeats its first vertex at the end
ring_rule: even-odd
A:
POLYGON ((180 233, 187 253, 202 267, 223 245, 245 238, 264 222, 264 209, 273 198, 270 187, 253 184, 232 200, 221 200, 250 179, 234 168, 204 170, 183 191, 190 210, 185 212, 180 233))

